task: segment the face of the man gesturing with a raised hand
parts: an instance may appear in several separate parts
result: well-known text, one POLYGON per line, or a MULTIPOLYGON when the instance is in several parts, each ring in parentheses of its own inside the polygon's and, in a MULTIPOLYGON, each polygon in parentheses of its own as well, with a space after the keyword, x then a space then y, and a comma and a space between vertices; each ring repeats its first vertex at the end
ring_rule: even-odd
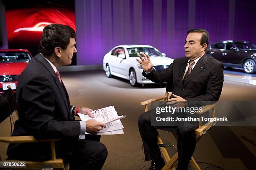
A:
POLYGON ((185 55, 190 60, 194 60, 197 57, 200 57, 203 54, 203 47, 200 45, 202 33, 191 32, 187 35, 185 41, 185 55))

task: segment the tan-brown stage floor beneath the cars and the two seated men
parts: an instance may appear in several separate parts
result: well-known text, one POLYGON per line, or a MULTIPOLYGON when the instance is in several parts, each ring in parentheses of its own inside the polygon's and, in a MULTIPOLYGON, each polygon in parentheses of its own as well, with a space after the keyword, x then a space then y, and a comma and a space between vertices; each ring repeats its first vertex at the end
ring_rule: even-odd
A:
MULTIPOLYGON (((244 75, 233 75, 225 71, 220 100, 256 100, 255 85, 235 82, 227 78, 236 76, 244 75)), ((138 117, 143 113, 144 108, 140 103, 150 98, 163 96, 165 85, 132 87, 128 80, 106 77, 103 70, 61 72, 61 78, 69 92, 72 105, 90 107, 93 110, 113 105, 119 115, 126 115, 126 118, 122 120, 125 127, 124 134, 103 135, 101 138, 101 142, 108 148, 108 158, 103 170, 141 169, 144 161, 141 156, 142 142, 138 131, 138 117)), ((10 135, 10 130, 6 128, 9 126, 9 120, 0 124, 0 129, 4 129, 1 131, 1 136, 10 135)), ((159 131, 159 133, 164 142, 177 144, 171 133, 165 131, 159 131)), ((197 143, 193 156, 197 162, 202 162, 199 163, 202 170, 211 166, 206 163, 218 165, 225 170, 255 170, 255 133, 255 126, 212 127, 197 143)), ((0 144, 2 158, 6 158, 6 147, 7 145, 0 144)), ((173 154, 176 152, 172 148, 168 150, 173 154)), ((150 161, 146 162, 146 167, 149 166, 150 161)))

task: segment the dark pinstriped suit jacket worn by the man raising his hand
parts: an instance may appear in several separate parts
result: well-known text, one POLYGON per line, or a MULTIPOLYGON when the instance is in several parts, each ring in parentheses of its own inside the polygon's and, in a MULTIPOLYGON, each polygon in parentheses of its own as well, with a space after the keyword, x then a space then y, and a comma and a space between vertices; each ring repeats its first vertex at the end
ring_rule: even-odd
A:
POLYGON ((167 82, 167 91, 188 101, 217 101, 223 86, 223 64, 204 54, 183 84, 187 62, 186 57, 177 58, 164 70, 153 69, 148 75, 143 71, 142 75, 153 82, 167 82))

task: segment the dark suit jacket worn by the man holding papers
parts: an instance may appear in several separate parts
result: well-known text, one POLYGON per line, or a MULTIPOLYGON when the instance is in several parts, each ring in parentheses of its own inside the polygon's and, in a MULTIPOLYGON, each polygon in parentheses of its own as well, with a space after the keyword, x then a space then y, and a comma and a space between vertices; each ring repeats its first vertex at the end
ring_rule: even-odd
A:
MULTIPOLYGON (((56 143, 56 155, 68 159, 80 134, 80 123, 70 113, 71 105, 64 84, 59 82, 49 62, 40 54, 29 62, 19 77, 17 86, 19 119, 14 136, 61 138, 56 143)), ((9 159, 48 160, 50 143, 10 144, 9 159)))

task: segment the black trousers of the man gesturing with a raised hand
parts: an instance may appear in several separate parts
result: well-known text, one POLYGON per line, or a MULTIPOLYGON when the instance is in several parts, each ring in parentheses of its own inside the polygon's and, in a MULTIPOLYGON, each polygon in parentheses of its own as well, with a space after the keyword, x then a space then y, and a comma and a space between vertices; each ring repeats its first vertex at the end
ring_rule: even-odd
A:
MULTIPOLYGON (((154 112, 154 110, 153 110, 154 112)), ((177 170, 186 170, 195 151, 196 139, 195 130, 197 126, 182 123, 179 126, 151 126, 151 112, 144 112, 138 118, 138 128, 141 134, 144 154, 146 160, 155 160, 161 158, 161 152, 157 144, 158 132, 156 129, 162 129, 177 133, 178 135, 178 168, 177 170)))

